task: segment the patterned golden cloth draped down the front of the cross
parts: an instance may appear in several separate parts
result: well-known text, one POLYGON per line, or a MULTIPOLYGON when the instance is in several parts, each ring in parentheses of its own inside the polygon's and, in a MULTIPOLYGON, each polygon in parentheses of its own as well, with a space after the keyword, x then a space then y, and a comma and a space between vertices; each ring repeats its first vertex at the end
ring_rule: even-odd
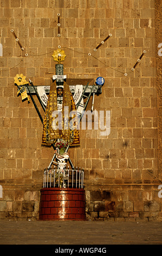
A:
POLYGON ((54 81, 50 87, 43 119, 42 146, 51 146, 58 138, 64 139, 71 146, 80 145, 77 109, 70 88, 64 82, 63 108, 60 118, 57 106, 57 85, 54 81))

